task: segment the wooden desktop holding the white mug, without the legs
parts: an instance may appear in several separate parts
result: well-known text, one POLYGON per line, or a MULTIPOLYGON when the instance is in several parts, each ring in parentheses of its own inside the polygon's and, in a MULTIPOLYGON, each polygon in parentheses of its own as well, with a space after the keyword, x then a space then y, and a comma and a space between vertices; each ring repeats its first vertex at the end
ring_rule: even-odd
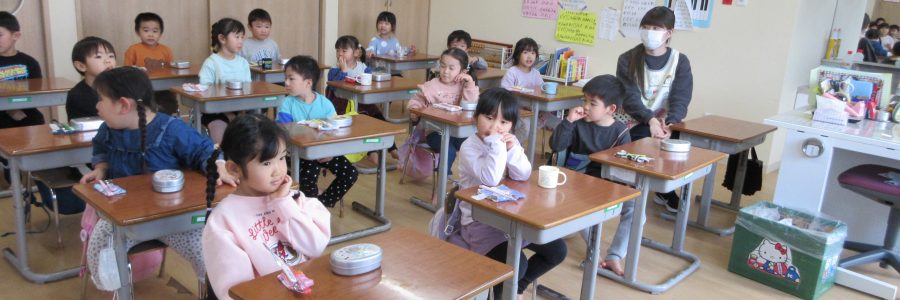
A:
POLYGON ((560 171, 566 174, 567 180, 564 185, 555 189, 538 186, 540 172, 538 170, 532 171, 527 181, 509 178, 500 181, 509 188, 525 194, 525 198, 518 201, 497 203, 491 200, 472 199, 472 196, 478 193, 478 187, 460 190, 456 192, 456 196, 473 206, 485 208, 528 226, 547 229, 612 207, 641 194, 636 189, 612 181, 566 168, 560 168, 560 171))

